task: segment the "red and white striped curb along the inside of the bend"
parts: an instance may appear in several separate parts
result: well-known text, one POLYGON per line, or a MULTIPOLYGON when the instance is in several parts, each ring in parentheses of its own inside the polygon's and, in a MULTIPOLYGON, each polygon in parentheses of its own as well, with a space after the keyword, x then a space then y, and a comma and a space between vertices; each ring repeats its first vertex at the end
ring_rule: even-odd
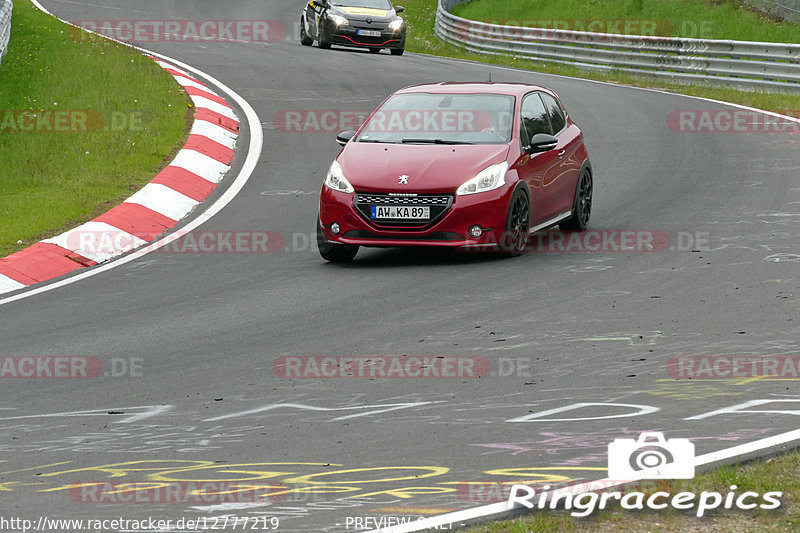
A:
POLYGON ((122 204, 94 220, 0 259, 0 294, 94 266, 154 241, 203 200, 230 170, 239 119, 185 70, 150 56, 192 100, 194 124, 173 161, 122 204))

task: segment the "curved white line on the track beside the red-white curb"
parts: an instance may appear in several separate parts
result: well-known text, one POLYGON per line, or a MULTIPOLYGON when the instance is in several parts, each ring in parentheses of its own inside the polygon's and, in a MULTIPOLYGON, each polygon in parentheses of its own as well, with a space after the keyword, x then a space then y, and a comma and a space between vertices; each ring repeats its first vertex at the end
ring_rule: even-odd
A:
MULTIPOLYGON (((38 0, 31 0, 31 1, 33 2, 33 4, 37 8, 39 8, 44 13, 47 13, 48 15, 54 16, 47 9, 45 9, 44 6, 42 6, 38 2, 38 0)), ((56 18, 58 18, 58 17, 56 17, 56 18)), ((58 20, 61 20, 65 24, 69 24, 69 22, 67 22, 67 21, 65 21, 63 19, 58 19, 58 20)), ((126 44, 126 43, 122 43, 122 44, 126 44)), ((130 46, 130 45, 128 45, 128 46, 130 46)), ((199 69, 196 69, 196 68, 194 68, 194 67, 192 67, 190 65, 187 65, 186 63, 183 63, 183 62, 178 61, 176 59, 172 59, 171 57, 165 56, 163 54, 159 54, 159 53, 156 53, 156 52, 153 52, 153 51, 150 51, 150 50, 146 50, 144 48, 135 47, 135 46, 131 46, 131 48, 135 48, 135 49, 137 49, 137 50, 139 50, 139 51, 141 51, 143 53, 149 54, 149 55, 151 55, 153 57, 161 58, 163 61, 169 61, 171 63, 170 68, 173 68, 173 69, 178 70, 178 71, 183 70, 184 72, 187 73, 187 75, 194 74, 194 76, 192 76, 192 77, 200 77, 200 78, 202 78, 204 80, 207 80, 207 81, 211 82, 222 93, 224 93, 227 97, 230 97, 231 100, 236 102, 236 104, 239 107, 241 107, 242 110, 245 113, 245 118, 247 119, 248 129, 250 130, 249 131, 249 133, 250 133, 250 144, 249 144, 248 149, 247 149, 247 158, 244 161, 244 165, 242 166, 242 170, 239 172, 239 174, 236 176, 236 178, 233 180, 233 182, 230 184, 230 186, 225 190, 225 192, 222 194, 222 196, 220 196, 213 204, 209 205, 208 208, 205 211, 203 211, 203 213, 198 215, 197 218, 195 218, 194 220, 188 222, 183 228, 181 228, 181 230, 185 231, 185 232, 192 231, 193 229, 195 229, 195 228, 199 227, 200 225, 204 224, 205 222, 208 222, 214 215, 216 215, 217 213, 222 211, 222 209, 224 209, 225 206, 227 206, 229 203, 231 203, 231 201, 233 201, 233 199, 236 198, 236 195, 238 195, 239 192, 241 192, 241 190, 244 188, 245 184, 247 183, 247 180, 250 179, 250 176, 252 176, 253 171, 255 170, 256 165, 258 164, 258 159, 259 159, 259 157, 261 157, 261 149, 263 148, 263 144, 264 144, 264 136, 263 136, 263 132, 261 131, 261 119, 259 119, 259 117, 256 114, 255 110, 250 106, 250 104, 247 103, 247 100, 242 98, 233 89, 231 89, 230 87, 228 87, 227 85, 225 85, 221 81, 217 80, 213 76, 210 76, 210 75, 206 74, 205 72, 203 72, 203 71, 201 71, 199 69), (189 73, 191 73, 191 74, 189 74, 189 73)), ((194 152, 194 153, 197 154, 197 155, 202 155, 202 154, 199 154, 197 152, 194 152)), ((180 157, 180 154, 179 154, 179 157, 180 157)), ((211 158, 209 158, 209 159, 211 159, 211 158)), ((221 164, 219 162, 217 162, 217 163, 221 164)), ((223 166, 225 166, 225 165, 223 165, 223 166)), ((187 169, 187 170, 191 170, 191 169, 187 169)), ((207 176, 203 176, 203 177, 207 178, 207 176)), ((215 181, 219 181, 219 178, 217 178, 215 181)), ((143 256, 147 255, 148 253, 163 247, 164 245, 168 244, 168 242, 169 242, 169 240, 167 238, 159 239, 158 241, 156 241, 154 243, 151 243, 149 246, 146 246, 145 248, 142 248, 141 250, 137 250, 136 252, 133 252, 130 255, 126 255, 124 257, 121 257, 119 259, 116 259, 114 261, 106 263, 106 264, 101 265, 99 267, 95 267, 95 268, 91 268, 91 269, 82 271, 79 274, 76 274, 76 275, 71 276, 71 277, 66 278, 66 279, 62 279, 62 280, 57 281, 55 283, 51 283, 51 284, 48 284, 48 285, 45 285, 45 286, 42 286, 42 287, 36 287, 36 288, 31 289, 31 290, 21 292, 19 294, 15 294, 13 296, 9 296, 7 298, 0 299, 0 305, 6 305, 6 304, 9 304, 11 302, 15 302, 17 300, 22 300, 23 298, 29 298, 31 296, 34 296, 34 295, 37 295, 37 294, 41 294, 43 292, 47 292, 47 291, 51 291, 51 290, 54 290, 54 289, 58 289, 58 288, 66 286, 66 285, 70 285, 72 283, 76 283, 76 282, 81 281, 83 279, 86 279, 86 278, 89 278, 89 277, 92 277, 92 276, 96 276, 97 274, 100 274, 100 273, 105 272, 107 270, 111 270, 112 268, 116 268, 118 266, 124 265, 124 264, 129 263, 131 261, 134 261, 136 259, 139 259, 140 257, 143 257, 143 256)), ((8 283, 4 279, 0 278, 0 284, 8 284, 8 283)))

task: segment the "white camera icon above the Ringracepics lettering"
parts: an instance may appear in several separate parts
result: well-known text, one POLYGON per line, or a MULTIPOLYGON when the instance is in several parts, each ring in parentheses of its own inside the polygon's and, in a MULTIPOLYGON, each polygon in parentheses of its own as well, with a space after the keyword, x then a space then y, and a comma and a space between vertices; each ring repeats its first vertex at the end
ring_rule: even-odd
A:
POLYGON ((664 439, 660 432, 645 432, 638 439, 615 439, 608 445, 611 479, 692 479, 694 443, 689 439, 664 439))

